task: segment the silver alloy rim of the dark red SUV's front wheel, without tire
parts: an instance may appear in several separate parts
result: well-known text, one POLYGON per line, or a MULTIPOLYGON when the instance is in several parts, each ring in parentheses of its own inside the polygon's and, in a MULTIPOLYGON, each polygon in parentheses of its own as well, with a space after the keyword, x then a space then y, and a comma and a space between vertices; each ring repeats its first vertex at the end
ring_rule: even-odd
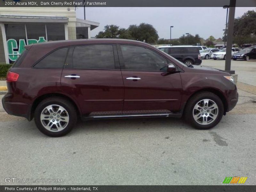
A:
POLYGON ((210 99, 203 99, 193 108, 194 120, 201 125, 211 124, 219 114, 218 105, 210 99))

